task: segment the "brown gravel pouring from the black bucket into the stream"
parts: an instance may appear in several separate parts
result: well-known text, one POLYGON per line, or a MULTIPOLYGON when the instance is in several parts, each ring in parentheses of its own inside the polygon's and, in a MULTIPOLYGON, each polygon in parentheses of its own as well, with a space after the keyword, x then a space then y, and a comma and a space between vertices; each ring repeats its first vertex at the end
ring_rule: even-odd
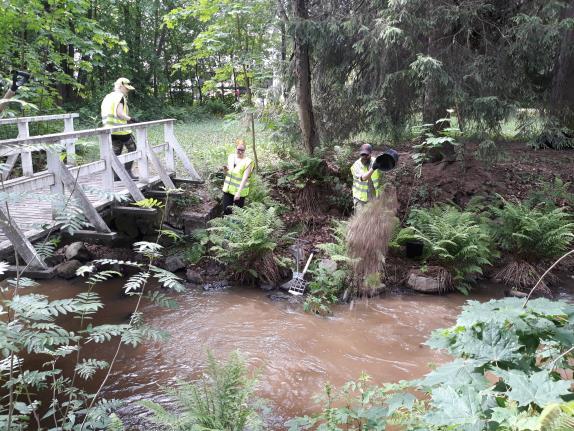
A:
POLYGON ((399 222, 397 210, 397 191, 387 184, 349 220, 347 246, 354 260, 353 287, 359 294, 373 294, 380 287, 389 241, 399 222))

